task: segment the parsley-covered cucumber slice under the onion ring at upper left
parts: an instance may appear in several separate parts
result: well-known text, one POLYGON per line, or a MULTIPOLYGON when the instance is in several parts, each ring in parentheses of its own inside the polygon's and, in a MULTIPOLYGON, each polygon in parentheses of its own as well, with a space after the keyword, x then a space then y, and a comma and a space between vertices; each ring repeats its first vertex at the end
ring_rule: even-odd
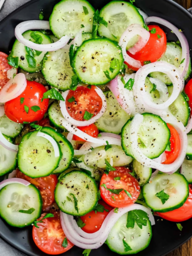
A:
MULTIPOLYGON (((35 40, 30 36, 30 34, 32 32, 35 32, 36 35, 39 35, 42 37, 42 44, 48 44, 48 43, 52 42, 48 35, 38 32, 38 31, 28 30, 28 31, 24 32, 22 35, 25 39, 28 39, 28 40, 31 40, 32 42, 34 42, 35 40)), ((29 73, 38 72, 39 70, 42 69, 41 61, 42 61, 46 51, 42 51, 38 56, 37 56, 37 54, 35 54, 34 51, 33 51, 33 53, 34 53, 34 59, 36 62, 36 66, 30 67, 28 65, 28 62, 26 59, 27 52, 24 48, 24 44, 20 43, 17 39, 15 40, 13 47, 12 47, 11 55, 18 57, 18 66, 29 73)))

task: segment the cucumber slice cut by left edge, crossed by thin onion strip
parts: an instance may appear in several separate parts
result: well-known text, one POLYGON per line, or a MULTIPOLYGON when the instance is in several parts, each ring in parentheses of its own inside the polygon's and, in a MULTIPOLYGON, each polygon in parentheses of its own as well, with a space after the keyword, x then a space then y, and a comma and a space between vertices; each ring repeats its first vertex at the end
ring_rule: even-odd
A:
MULTIPOLYGON (((3 134, 3 136, 12 143, 10 137, 7 137, 3 134)), ((16 152, 6 149, 2 145, 0 145, 0 176, 11 172, 16 167, 16 152)))

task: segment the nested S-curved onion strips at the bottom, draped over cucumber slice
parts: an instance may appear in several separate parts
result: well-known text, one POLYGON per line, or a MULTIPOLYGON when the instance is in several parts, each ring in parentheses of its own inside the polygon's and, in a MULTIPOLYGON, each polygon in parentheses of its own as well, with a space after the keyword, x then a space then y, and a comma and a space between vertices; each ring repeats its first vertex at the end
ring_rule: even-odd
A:
POLYGON ((106 240, 112 226, 116 223, 116 221, 121 217, 123 214, 130 210, 140 209, 145 211, 149 219, 151 221, 151 225, 154 225, 154 217, 151 214, 151 211, 140 205, 140 204, 130 204, 123 208, 118 208, 118 212, 115 213, 112 209, 107 217, 104 219, 100 229, 92 234, 86 233, 81 230, 76 221, 73 219, 73 216, 67 215, 64 212, 60 211, 60 221, 63 228, 63 231, 66 237, 76 246, 84 249, 96 249, 100 247, 106 240))

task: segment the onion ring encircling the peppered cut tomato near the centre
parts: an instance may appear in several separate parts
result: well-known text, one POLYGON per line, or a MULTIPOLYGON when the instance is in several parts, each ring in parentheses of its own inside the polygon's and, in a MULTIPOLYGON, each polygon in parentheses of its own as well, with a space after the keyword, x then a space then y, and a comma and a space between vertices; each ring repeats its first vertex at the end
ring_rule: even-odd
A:
POLYGON ((64 92, 62 92, 62 96, 64 98, 65 101, 62 101, 60 100, 60 110, 61 110, 61 113, 63 115, 63 117, 68 120, 70 123, 72 123, 73 125, 76 125, 76 126, 86 126, 86 125, 90 125, 92 123, 94 123, 96 120, 98 120, 102 115, 103 113, 105 112, 106 110, 106 98, 105 98, 105 95, 104 93, 102 92, 101 89, 99 89, 98 87, 95 88, 95 91, 96 93, 98 94, 98 96, 101 98, 102 100, 102 107, 100 109, 100 111, 94 115, 93 117, 91 117, 89 120, 85 120, 85 121, 78 121, 78 120, 75 120, 74 118, 72 118, 69 113, 67 112, 66 110, 66 104, 65 104, 65 101, 66 101, 66 97, 68 95, 68 92, 69 90, 65 90, 64 92))

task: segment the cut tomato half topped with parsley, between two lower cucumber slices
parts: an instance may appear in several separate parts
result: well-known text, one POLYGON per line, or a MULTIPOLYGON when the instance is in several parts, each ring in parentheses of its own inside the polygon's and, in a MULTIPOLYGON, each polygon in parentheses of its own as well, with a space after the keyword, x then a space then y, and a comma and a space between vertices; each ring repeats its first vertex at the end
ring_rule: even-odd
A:
POLYGON ((109 171, 103 174, 100 180, 100 195, 102 199, 113 207, 124 207, 136 201, 140 193, 140 186, 135 177, 133 177, 129 169, 126 167, 115 167, 115 171, 109 171), (114 180, 114 177, 120 177, 120 180, 114 180), (106 185, 109 189, 123 190, 119 194, 115 194, 102 186, 106 185), (130 198, 125 191, 130 193, 130 198))

